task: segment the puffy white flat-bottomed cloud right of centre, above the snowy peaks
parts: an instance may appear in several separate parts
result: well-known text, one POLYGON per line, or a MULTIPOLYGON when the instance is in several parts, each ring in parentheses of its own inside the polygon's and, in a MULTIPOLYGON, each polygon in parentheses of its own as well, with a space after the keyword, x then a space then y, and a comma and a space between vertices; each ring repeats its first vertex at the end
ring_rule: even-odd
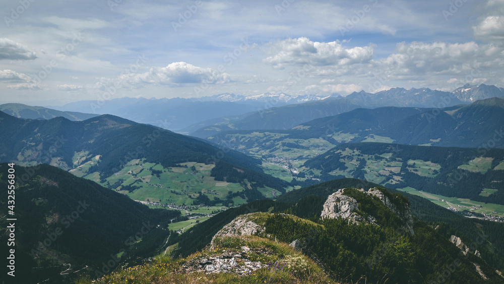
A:
POLYGON ((307 37, 285 39, 271 43, 272 56, 263 60, 274 68, 286 65, 342 66, 367 63, 373 59, 374 44, 344 48, 340 41, 318 42, 307 37))

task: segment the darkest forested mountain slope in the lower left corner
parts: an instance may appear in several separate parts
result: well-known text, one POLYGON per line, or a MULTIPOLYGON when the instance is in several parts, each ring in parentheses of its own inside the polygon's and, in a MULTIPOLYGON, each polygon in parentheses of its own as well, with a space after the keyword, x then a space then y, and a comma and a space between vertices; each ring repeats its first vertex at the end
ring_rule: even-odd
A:
MULTIPOLYGON (((0 164, 0 184, 6 189, 8 173, 12 173, 9 168, 12 167, 7 163, 0 164)), ((15 223, 17 283, 75 279, 79 273, 74 272, 86 266, 101 271, 101 263, 120 251, 124 251, 119 257, 122 261, 149 256, 169 235, 161 228, 165 228, 170 218, 180 215, 176 210, 149 209, 127 196, 47 164, 13 168, 15 176, 27 178, 23 184, 15 184, 16 203, 9 208, 14 215, 7 214, 8 200, 13 199, 8 199, 7 190, 2 191, 0 213, 4 217, 0 228, 6 232, 15 223), (17 220, 9 221, 5 216, 17 220), (158 224, 164 225, 157 228, 158 224), (140 239, 140 243, 133 245, 140 239), (64 263, 70 263, 69 274, 60 274, 69 268, 64 263)), ((3 250, 8 251, 9 235, 3 234, 1 238, 3 250)), ((3 271, 6 261, 4 258, 3 271)))

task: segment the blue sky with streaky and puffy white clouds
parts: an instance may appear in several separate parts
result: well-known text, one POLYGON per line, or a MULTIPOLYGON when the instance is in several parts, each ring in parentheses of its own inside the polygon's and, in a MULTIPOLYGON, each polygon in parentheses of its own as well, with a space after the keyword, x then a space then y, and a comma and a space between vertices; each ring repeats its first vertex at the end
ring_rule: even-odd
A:
POLYGON ((0 103, 504 87, 504 0, 0 4, 0 103))

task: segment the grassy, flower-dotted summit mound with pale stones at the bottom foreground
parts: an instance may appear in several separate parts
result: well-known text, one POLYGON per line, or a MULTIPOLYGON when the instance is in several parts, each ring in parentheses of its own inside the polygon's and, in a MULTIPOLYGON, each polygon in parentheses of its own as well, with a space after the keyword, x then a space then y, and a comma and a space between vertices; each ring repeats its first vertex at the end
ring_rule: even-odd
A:
POLYGON ((213 247, 184 259, 161 257, 151 263, 125 268, 97 280, 81 278, 77 284, 165 283, 336 283, 311 259, 287 244, 259 237, 216 238, 213 247), (247 247, 247 249, 243 249, 247 247), (215 259, 230 258, 235 266, 227 273, 206 272, 215 259), (254 268, 250 268, 254 267, 254 268))

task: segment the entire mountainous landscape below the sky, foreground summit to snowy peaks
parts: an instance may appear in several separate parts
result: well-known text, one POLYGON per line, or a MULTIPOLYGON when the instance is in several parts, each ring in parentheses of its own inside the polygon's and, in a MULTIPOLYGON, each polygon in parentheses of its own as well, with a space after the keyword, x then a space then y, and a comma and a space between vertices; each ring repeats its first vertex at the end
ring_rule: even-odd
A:
POLYGON ((16 280, 503 283, 503 91, 2 105, 16 280))

